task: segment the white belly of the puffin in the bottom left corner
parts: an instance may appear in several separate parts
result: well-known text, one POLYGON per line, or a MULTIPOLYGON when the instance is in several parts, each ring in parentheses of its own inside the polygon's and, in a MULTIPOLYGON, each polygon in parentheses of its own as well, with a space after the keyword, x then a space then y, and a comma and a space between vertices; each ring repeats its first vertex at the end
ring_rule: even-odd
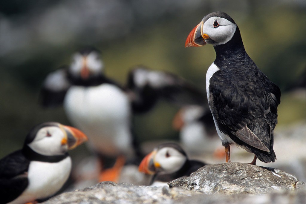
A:
POLYGON ((23 204, 54 195, 67 181, 71 166, 70 157, 55 163, 31 161, 28 170, 29 185, 10 204, 23 204))

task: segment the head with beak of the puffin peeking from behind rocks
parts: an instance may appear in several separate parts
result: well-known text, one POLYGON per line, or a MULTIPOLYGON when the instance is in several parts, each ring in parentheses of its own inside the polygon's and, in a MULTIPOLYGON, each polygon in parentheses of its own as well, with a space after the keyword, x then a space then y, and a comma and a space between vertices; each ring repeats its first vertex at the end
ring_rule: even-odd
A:
POLYGON ((139 171, 146 174, 170 174, 180 170, 187 161, 185 151, 176 143, 156 147, 140 163, 139 171))

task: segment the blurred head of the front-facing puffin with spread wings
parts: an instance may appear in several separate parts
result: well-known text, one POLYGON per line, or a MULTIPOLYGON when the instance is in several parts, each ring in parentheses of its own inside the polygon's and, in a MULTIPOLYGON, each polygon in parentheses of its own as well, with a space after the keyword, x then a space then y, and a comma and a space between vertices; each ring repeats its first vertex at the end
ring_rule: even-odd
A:
POLYGON ((103 68, 100 51, 95 48, 86 48, 73 54, 69 73, 75 78, 86 81, 91 77, 100 76, 103 68))

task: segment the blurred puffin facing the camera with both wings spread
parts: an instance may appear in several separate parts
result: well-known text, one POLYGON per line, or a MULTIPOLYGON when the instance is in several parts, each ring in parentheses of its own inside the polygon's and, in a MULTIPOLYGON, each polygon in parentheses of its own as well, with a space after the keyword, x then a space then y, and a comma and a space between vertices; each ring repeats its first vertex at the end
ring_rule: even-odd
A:
POLYGON ((206 99, 201 97, 201 91, 169 73, 136 68, 129 73, 127 86, 121 87, 106 78, 103 69, 98 50, 81 50, 73 55, 69 67, 47 76, 41 98, 47 107, 64 104, 69 121, 88 135, 102 168, 106 169, 99 180, 117 181, 126 158, 141 158, 139 144, 132 134, 132 113, 149 111, 165 96, 172 97, 174 102, 177 98, 186 99, 183 102, 194 99, 194 103, 206 99), (108 158, 116 161, 107 166, 108 158))

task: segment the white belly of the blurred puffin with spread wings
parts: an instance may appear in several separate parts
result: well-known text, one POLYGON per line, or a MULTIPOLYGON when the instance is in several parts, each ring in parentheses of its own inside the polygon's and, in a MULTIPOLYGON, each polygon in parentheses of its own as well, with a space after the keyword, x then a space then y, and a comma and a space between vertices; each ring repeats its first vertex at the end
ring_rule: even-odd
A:
POLYGON ((84 131, 96 151, 108 155, 131 151, 129 99, 118 87, 73 86, 64 108, 68 119, 84 131))

